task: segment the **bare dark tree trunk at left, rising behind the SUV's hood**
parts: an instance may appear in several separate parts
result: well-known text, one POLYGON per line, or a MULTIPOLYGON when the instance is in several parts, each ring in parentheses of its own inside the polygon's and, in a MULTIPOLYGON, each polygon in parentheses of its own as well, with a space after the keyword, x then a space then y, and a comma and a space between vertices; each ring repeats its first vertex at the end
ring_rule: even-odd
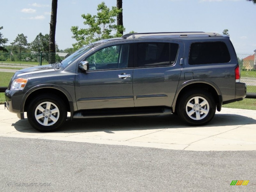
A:
POLYGON ((55 63, 55 31, 57 20, 57 3, 58 0, 52 0, 51 2, 51 22, 49 33, 49 63, 55 63))

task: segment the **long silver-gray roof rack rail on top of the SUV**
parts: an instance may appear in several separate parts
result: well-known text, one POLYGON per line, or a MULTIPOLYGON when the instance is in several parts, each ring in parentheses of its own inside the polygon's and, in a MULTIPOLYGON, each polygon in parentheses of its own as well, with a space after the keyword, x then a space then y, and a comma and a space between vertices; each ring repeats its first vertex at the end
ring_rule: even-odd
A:
POLYGON ((178 37, 222 37, 218 33, 205 32, 158 32, 158 33, 129 33, 122 36, 125 39, 137 38, 178 38, 178 37))

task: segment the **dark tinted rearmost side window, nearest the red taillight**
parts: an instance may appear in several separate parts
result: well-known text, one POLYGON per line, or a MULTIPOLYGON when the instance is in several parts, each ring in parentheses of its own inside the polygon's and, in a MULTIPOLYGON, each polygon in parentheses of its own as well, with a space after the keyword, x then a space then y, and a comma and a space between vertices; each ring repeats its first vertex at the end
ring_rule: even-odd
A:
POLYGON ((197 42, 190 45, 189 64, 227 63, 230 55, 224 42, 197 42))

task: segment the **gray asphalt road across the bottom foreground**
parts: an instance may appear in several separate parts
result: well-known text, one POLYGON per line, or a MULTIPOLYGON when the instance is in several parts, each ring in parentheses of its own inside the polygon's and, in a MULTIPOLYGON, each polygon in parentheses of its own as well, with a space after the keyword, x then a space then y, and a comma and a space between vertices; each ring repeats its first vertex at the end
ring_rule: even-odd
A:
POLYGON ((0 137, 0 142, 0 191, 256 188, 255 151, 197 152, 12 137, 0 137), (232 180, 250 181, 230 186, 232 180))

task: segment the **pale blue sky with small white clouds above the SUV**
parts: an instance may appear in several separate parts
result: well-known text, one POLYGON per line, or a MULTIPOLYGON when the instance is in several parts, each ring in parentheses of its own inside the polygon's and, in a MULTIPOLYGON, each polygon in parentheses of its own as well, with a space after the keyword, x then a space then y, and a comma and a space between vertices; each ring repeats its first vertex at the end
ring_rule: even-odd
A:
MULTIPOLYGON (((102 0, 59 0, 56 43, 59 49, 72 47, 71 26, 86 28, 82 14, 97 14, 102 0)), ((116 0, 105 0, 108 7, 116 0)), ((0 31, 9 45, 18 34, 28 42, 40 32, 49 34, 51 0, 0 0, 0 31)), ((239 53, 256 49, 256 5, 246 0, 123 0, 125 33, 159 31, 204 31, 222 33, 229 30, 239 53)))

